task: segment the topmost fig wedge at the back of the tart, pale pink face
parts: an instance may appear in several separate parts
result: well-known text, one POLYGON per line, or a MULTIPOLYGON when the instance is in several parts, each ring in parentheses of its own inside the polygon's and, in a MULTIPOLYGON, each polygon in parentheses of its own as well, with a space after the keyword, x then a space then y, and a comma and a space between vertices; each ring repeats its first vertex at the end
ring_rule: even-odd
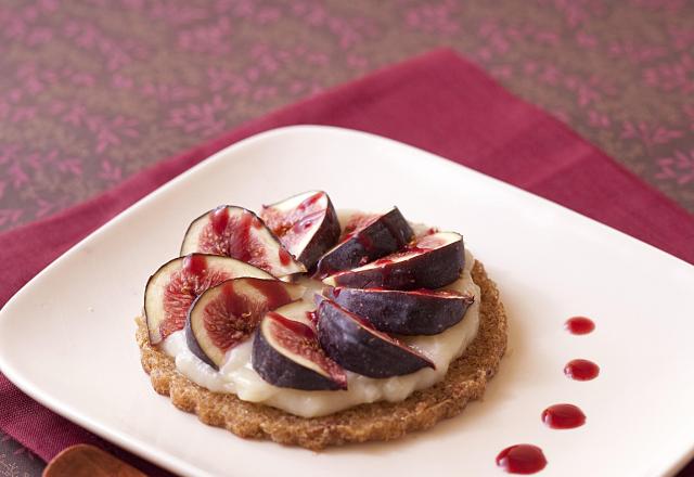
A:
POLYGON ((308 270, 339 240, 337 214, 323 191, 304 192, 262 206, 260 218, 308 270))

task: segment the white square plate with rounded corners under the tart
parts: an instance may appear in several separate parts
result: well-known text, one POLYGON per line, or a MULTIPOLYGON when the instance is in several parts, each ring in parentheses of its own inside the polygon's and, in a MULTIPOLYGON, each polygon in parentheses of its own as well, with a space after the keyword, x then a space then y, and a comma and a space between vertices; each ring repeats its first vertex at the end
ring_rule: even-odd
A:
POLYGON ((694 267, 608 227, 417 149, 301 126, 234 144, 153 192, 43 270, 0 312, 0 369, 81 426, 185 475, 502 475, 503 448, 531 442, 543 475, 664 475, 694 444, 694 267), (258 208, 323 189, 338 208, 397 204, 460 231, 499 284, 509 352, 485 398, 393 442, 323 453, 240 439, 156 395, 133 318, 147 276, 188 223, 219 204, 258 208), (573 336, 571 315, 596 330, 573 336), (563 374, 574 358, 592 382, 563 374), (552 430, 541 411, 578 404, 584 426, 552 430), (291 469, 291 470, 287 470, 291 469))

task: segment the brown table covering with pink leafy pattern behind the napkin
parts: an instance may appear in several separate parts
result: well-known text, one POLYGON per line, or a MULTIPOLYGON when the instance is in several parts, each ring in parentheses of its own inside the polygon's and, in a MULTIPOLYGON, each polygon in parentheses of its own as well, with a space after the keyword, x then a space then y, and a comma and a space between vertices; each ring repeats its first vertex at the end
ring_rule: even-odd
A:
MULTIPOLYGON (((3 0, 0 231, 440 46, 694 212, 689 0, 3 0)), ((0 434, 0 476, 42 466, 0 434)))

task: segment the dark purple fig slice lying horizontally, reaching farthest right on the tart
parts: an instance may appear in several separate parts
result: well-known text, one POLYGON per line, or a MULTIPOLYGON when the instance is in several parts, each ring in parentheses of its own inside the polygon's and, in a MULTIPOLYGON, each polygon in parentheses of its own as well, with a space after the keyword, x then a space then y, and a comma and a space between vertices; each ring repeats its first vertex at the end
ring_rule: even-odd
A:
POLYGON ((399 335, 437 335, 461 322, 475 298, 448 289, 402 292, 383 288, 332 288, 323 295, 378 331, 399 335))

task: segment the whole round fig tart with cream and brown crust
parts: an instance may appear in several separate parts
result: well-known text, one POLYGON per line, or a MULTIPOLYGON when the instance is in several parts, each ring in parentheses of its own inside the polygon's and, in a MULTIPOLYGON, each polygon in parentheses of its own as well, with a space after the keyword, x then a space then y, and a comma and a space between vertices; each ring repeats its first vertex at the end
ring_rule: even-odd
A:
POLYGON ((499 292, 459 233, 397 207, 338 212, 323 191, 194 219, 136 321, 177 408, 311 450, 459 414, 506 347, 499 292))

